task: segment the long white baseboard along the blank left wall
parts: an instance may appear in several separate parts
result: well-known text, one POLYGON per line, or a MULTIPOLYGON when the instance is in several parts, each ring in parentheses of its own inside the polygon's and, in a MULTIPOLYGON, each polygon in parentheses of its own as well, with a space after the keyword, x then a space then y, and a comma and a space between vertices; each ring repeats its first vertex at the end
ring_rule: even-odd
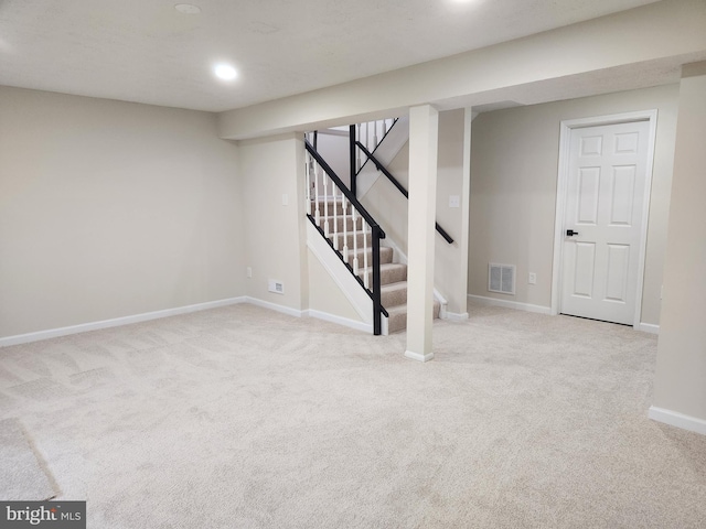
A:
POLYGON ((164 309, 162 311, 145 312, 142 314, 133 314, 131 316, 114 317, 110 320, 101 320, 99 322, 82 323, 78 325, 69 325, 67 327, 50 328, 46 331, 38 331, 35 333, 18 334, 15 336, 6 336, 0 338, 0 347, 9 345, 28 344, 30 342, 39 342, 41 339, 57 338, 60 336, 68 336, 71 334, 85 333, 87 331, 98 331, 100 328, 118 327, 120 325, 129 325, 131 323, 147 322, 158 320, 160 317, 176 316, 188 314, 190 312, 207 311, 208 309, 217 309, 220 306, 236 305, 245 303, 245 296, 228 298, 225 300, 207 301, 205 303, 196 303, 193 305, 178 306, 174 309, 164 309))

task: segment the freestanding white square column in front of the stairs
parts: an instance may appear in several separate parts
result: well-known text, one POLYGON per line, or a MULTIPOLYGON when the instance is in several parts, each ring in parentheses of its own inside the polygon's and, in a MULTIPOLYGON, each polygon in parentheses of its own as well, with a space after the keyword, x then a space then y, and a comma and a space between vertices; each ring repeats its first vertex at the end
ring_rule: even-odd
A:
POLYGON ((405 356, 434 358, 434 258, 437 203, 439 112, 431 105, 409 109, 409 206, 407 249, 407 350, 405 356))

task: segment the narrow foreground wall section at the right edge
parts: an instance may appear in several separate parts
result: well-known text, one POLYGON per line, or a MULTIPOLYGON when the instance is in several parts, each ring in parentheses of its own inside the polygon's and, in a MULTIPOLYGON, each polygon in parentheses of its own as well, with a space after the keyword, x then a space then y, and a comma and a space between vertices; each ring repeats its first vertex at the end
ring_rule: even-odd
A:
POLYGON ((706 63, 685 68, 657 346, 656 419, 706 434, 706 63), (678 414, 693 418, 681 423, 678 414))

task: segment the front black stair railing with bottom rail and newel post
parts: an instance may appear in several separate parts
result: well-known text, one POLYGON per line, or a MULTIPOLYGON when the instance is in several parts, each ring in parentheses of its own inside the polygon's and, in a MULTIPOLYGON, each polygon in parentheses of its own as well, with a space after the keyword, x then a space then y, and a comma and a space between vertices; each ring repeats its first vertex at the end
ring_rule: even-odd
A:
MULTIPOLYGON (((307 215, 307 217, 309 217, 309 220, 314 225, 317 230, 329 242, 329 246, 331 246, 331 249, 336 252, 336 255, 339 256, 341 261, 343 261, 345 267, 350 270, 350 272, 353 274, 353 277, 361 284, 361 287, 363 287, 363 290, 365 290, 365 292, 367 292, 367 294, 371 296, 371 299, 373 301, 373 334, 375 336, 378 336, 379 334, 382 334, 382 315, 384 314, 385 316, 389 317, 389 314, 387 313, 385 307, 383 307, 383 303, 382 303, 381 274, 379 274, 379 264, 381 264, 381 262, 379 262, 379 246, 381 246, 379 241, 381 241, 381 239, 384 239, 386 237, 385 231, 383 230, 383 228, 379 227, 379 225, 373 218, 373 216, 370 213, 367 213, 367 209, 365 209, 365 207, 363 207, 363 204, 361 204, 359 202, 359 199, 355 197, 355 195, 345 186, 345 184, 343 184, 341 179, 335 174, 335 172, 331 169, 331 166, 327 163, 327 161, 323 158, 321 158, 321 154, 319 154, 317 152, 317 150, 313 148, 313 145, 311 143, 309 143, 309 140, 307 140, 307 139, 304 139, 304 147, 307 148, 307 151, 309 152, 309 154, 311 154, 311 156, 317 161, 319 166, 321 166, 321 169, 323 169, 324 173, 327 173, 327 175, 335 184, 335 186, 339 188, 339 191, 341 191, 341 193, 343 193, 345 195, 345 197, 349 199, 351 205, 357 210, 357 213, 361 215, 361 217, 363 217, 363 219, 371 227, 371 233, 372 233, 371 250, 372 250, 372 253, 373 253, 373 267, 372 267, 373 268, 373 289, 372 289, 372 291, 365 288, 364 281, 359 276, 356 276, 354 273, 353 268, 351 267, 351 264, 349 264, 347 261, 345 261, 343 259, 343 256, 341 255, 341 252, 338 251, 333 247, 333 242, 329 238, 327 238, 323 229, 321 229, 321 227, 319 225, 317 225, 317 222, 313 218, 313 216, 312 215, 307 215)), ((315 175, 314 175, 314 177, 315 177, 315 175)), ((319 197, 314 197, 314 198, 319 199, 319 197)), ((368 273, 368 271, 365 270, 364 273, 368 273)))

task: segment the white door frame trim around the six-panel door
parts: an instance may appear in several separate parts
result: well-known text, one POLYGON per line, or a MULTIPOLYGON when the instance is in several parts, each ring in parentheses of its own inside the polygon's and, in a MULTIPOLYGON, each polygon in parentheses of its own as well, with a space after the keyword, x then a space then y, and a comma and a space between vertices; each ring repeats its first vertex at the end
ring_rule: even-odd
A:
POLYGON ((568 193, 568 170, 571 147, 571 130, 601 125, 630 123, 634 121, 649 121, 650 136, 648 139, 648 160, 645 170, 648 179, 644 186, 644 208, 642 210, 642 227, 640 233, 640 256, 638 258, 638 288, 635 292, 635 315, 633 325, 640 328, 642 316, 642 290, 644 283, 644 261, 648 248, 648 218, 650 216, 650 193, 652 191, 652 172, 654 162, 654 142, 657 130, 657 111, 642 110, 637 112, 613 114, 592 118, 568 119, 561 121, 559 137, 559 174, 556 186, 556 217, 554 222, 554 264, 552 272, 552 314, 557 315, 561 311, 560 285, 561 262, 564 250, 564 214, 566 213, 566 199, 568 193))

